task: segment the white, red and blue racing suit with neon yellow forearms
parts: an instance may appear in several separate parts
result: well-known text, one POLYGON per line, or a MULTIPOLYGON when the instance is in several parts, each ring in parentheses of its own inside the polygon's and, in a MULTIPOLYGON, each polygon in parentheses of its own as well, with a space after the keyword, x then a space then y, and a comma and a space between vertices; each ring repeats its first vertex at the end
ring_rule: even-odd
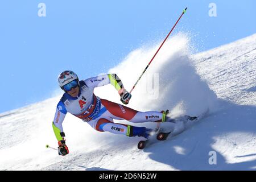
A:
POLYGON ((95 87, 112 84, 115 89, 123 89, 122 81, 115 74, 102 75, 80 81, 80 91, 77 97, 64 93, 57 104, 52 126, 58 141, 64 140, 62 123, 65 115, 71 113, 88 123, 97 131, 109 131, 114 134, 134 137, 133 126, 114 123, 113 119, 125 119, 133 123, 162 122, 165 113, 158 111, 141 112, 129 107, 101 99, 94 95, 95 87))

